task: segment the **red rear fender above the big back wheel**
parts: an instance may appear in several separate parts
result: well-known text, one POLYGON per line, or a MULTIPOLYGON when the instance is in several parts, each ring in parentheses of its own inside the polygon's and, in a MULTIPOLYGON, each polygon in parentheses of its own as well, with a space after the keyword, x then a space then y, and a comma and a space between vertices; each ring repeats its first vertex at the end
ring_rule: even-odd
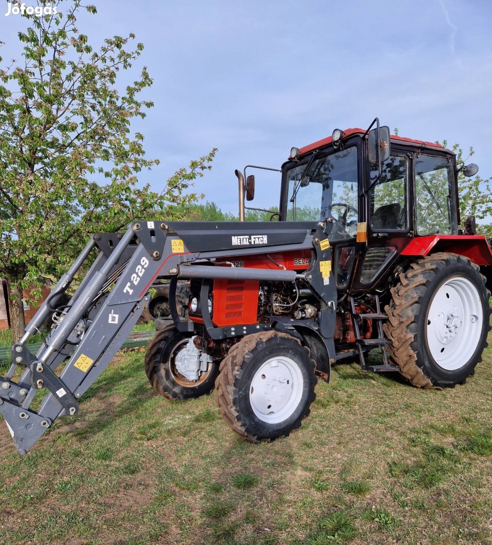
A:
POLYGON ((451 252, 469 257, 477 265, 492 265, 492 252, 479 235, 428 235, 410 241, 402 256, 427 256, 430 252, 451 252))

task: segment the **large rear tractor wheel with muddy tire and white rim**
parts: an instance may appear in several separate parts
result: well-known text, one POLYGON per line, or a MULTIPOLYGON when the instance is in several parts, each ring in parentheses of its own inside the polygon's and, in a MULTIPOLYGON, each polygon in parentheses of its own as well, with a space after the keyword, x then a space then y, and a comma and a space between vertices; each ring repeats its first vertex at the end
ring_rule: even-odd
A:
POLYGON ((392 360, 421 388, 464 384, 482 361, 490 292, 475 263, 435 253, 400 274, 384 325, 392 360))

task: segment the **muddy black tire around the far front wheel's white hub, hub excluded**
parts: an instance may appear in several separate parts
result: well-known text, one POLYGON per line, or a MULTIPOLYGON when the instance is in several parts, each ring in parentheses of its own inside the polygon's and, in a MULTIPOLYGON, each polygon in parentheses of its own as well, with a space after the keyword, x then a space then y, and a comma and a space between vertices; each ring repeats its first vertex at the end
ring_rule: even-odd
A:
POLYGON ((186 346, 191 334, 178 331, 174 324, 157 331, 145 354, 145 373, 153 389, 172 400, 190 399, 209 394, 214 389, 218 365, 210 362, 208 371, 197 381, 187 380, 174 366, 180 349, 186 346))

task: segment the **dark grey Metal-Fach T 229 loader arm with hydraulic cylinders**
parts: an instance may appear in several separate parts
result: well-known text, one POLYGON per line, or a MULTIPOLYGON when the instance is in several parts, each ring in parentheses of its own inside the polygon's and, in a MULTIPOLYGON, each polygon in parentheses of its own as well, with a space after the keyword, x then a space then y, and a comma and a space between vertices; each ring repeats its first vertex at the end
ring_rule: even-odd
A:
MULTIPOLYGON (((325 229, 325 223, 317 222, 145 221, 131 223, 124 234, 93 235, 27 325, 20 342, 14 344, 13 364, 0 378, 0 413, 17 451, 23 455, 31 449, 57 417, 77 415, 78 398, 122 346, 147 304, 148 290, 156 278, 174 279, 172 285, 177 278, 192 277, 302 279, 323 304, 319 330, 330 355, 334 354, 336 288, 326 265, 331 249, 325 229), (301 274, 281 268, 214 266, 214 260, 221 257, 306 249, 312 250, 313 258, 309 269, 301 274), (26 347, 28 338, 50 316, 58 296, 66 292, 93 250, 98 250, 98 256, 69 304, 60 311, 44 346, 32 354, 26 347), (19 374, 15 381, 14 376, 19 374), (40 389, 45 389, 46 395, 34 410, 31 405, 40 389)), ((181 328, 186 327, 178 324, 176 314, 174 319, 181 328)))

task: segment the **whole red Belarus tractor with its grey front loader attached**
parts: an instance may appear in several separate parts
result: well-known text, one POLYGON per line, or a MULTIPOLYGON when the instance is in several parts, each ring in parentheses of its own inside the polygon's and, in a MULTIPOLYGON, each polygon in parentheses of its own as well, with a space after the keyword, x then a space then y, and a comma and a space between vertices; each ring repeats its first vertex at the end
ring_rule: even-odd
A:
MULTIPOLYGON (((376 118, 367 131, 335 130, 291 150, 280 221, 152 220, 93 235, 14 344, 0 379, 0 413, 17 450, 31 449, 57 417, 77 415, 78 398, 162 279, 173 323, 145 355, 151 385, 181 400, 216 387, 224 420, 249 440, 299 427, 317 376, 329 381, 338 362, 358 358, 365 371, 397 371, 423 388, 464 383, 487 346, 492 253, 473 219, 460 223, 459 169, 474 170, 438 144, 390 137, 376 118), (189 280, 186 318, 181 279, 189 280), (53 328, 34 355, 26 343, 51 314, 53 328), (368 364, 374 348, 380 362, 368 364)), ((244 219, 254 178, 236 174, 244 219)))

